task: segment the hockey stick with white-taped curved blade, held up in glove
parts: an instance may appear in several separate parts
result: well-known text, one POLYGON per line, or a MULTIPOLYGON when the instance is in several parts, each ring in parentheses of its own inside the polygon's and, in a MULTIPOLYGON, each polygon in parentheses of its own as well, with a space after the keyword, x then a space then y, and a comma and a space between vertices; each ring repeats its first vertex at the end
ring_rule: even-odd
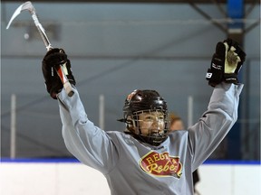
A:
MULTIPOLYGON (((34 6, 32 5, 32 3, 30 1, 25 2, 23 5, 20 5, 14 12, 14 14, 12 15, 9 23, 6 26, 6 29, 9 28, 10 24, 13 22, 14 18, 20 14, 21 12, 23 12, 24 10, 27 10, 30 12, 30 14, 32 15, 32 18, 34 20, 34 24, 38 29, 38 32, 40 33, 42 39, 43 39, 43 43, 46 47, 47 51, 50 51, 53 49, 53 46, 51 45, 51 43, 49 42, 49 39, 45 33, 45 30, 43 29, 42 24, 39 22, 38 17, 36 15, 36 11, 34 9, 34 6)), ((73 88, 71 83, 69 82, 69 80, 66 77, 66 71, 63 70, 63 66, 60 65, 60 67, 56 70, 57 74, 59 75, 61 81, 63 82, 63 88, 65 89, 66 93, 68 94, 69 97, 73 96, 73 88)))

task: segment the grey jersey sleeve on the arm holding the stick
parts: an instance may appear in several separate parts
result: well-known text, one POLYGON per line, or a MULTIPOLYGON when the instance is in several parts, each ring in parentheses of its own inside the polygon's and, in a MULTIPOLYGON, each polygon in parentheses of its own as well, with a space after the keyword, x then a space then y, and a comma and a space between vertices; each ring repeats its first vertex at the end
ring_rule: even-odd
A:
POLYGON ((60 116, 63 124, 63 140, 79 161, 106 174, 119 159, 115 141, 87 117, 76 88, 73 97, 64 89, 58 95, 60 116), (109 160, 110 159, 110 160, 109 160))

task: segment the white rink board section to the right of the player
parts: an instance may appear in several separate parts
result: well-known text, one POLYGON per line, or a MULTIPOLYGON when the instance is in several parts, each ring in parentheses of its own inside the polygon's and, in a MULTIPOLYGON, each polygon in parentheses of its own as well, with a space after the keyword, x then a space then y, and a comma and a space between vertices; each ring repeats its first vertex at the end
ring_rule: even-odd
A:
POLYGON ((200 195, 261 194, 260 164, 203 164, 198 172, 200 195))

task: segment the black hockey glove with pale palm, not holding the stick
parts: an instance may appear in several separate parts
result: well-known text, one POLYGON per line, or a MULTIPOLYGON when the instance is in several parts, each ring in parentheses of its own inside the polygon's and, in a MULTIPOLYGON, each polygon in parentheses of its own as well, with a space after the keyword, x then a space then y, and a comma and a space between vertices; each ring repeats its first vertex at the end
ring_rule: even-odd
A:
POLYGON ((210 69, 206 74, 208 84, 215 87, 222 81, 227 83, 238 83, 237 73, 246 59, 246 53, 239 44, 231 39, 218 42, 210 69))

